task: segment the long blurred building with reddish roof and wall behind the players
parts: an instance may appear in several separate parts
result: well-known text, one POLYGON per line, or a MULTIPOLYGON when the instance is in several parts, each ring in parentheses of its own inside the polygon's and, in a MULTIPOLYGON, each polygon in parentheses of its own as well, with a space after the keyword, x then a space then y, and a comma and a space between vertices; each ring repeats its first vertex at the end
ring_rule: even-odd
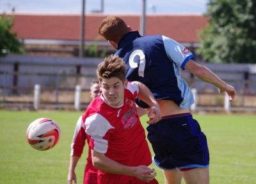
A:
MULTIPOLYGON (((80 15, 12 15, 13 30, 24 43, 29 55, 76 56, 81 44, 80 15)), ((102 13, 86 14, 84 18, 84 45, 91 52, 114 52, 98 34, 102 13)), ((122 17, 132 30, 140 29, 140 15, 117 15, 122 17)), ((163 34, 175 39, 192 52, 199 46, 199 32, 207 25, 203 15, 156 15, 146 18, 146 35, 163 34)))

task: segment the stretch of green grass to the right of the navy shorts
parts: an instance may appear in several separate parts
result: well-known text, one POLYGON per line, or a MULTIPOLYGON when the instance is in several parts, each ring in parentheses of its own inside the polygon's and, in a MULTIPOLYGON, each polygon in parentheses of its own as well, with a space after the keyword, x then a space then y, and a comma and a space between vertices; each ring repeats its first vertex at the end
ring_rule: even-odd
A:
POLYGON ((211 183, 255 184, 256 116, 195 116, 207 135, 211 183))

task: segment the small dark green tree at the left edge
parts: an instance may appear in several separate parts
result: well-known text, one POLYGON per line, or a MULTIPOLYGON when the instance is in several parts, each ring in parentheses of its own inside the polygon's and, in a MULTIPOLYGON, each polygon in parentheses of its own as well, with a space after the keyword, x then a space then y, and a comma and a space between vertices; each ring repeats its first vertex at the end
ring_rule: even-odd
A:
POLYGON ((12 31, 13 18, 7 15, 0 16, 0 57, 6 53, 24 53, 22 44, 12 31))

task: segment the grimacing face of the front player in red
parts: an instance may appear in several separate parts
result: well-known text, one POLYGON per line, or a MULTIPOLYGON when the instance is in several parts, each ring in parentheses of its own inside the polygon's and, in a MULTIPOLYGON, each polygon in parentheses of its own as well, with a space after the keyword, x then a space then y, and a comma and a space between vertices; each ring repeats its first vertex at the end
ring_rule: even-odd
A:
POLYGON ((103 78, 100 83, 102 95, 109 105, 119 107, 124 103, 124 89, 127 81, 123 82, 117 77, 103 78))

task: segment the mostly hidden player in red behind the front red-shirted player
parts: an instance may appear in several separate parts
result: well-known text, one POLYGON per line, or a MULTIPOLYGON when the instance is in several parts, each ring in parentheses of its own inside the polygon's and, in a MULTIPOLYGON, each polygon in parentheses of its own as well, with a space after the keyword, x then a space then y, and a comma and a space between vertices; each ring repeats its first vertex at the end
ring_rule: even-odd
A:
MULTIPOLYGON (((100 95, 99 81, 93 80, 92 85, 90 87, 90 97, 92 97, 92 99, 95 99, 95 97, 99 95, 100 95)), ((83 153, 83 148, 84 148, 86 139, 87 139, 87 136, 83 127, 83 121, 81 116, 77 120, 76 129, 74 132, 74 138, 72 139, 70 164, 68 169, 68 184, 72 184, 73 180, 74 180, 74 183, 77 183, 75 169, 77 166, 77 162, 83 153)), ((98 169, 96 169, 92 164, 92 152, 89 146, 87 163, 84 169, 83 184, 97 184, 97 174, 98 174, 98 169)))

